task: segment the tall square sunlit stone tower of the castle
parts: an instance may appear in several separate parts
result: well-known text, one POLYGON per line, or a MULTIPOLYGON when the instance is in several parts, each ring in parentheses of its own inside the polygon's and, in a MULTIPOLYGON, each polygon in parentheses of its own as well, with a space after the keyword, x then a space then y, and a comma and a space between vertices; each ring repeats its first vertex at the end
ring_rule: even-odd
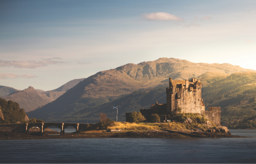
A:
POLYGON ((166 88, 166 111, 175 112, 179 107, 184 113, 201 113, 205 111, 202 99, 202 83, 199 80, 172 80, 166 88))

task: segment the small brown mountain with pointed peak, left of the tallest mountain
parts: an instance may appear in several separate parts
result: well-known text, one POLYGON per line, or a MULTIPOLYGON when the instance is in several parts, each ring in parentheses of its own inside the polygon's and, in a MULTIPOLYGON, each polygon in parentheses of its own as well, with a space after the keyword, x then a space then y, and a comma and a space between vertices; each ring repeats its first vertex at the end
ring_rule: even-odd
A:
POLYGON ((36 108, 48 104, 54 100, 53 97, 47 97, 46 94, 38 92, 32 86, 21 91, 12 92, 3 98, 7 101, 15 101, 20 105, 21 108, 25 110, 25 112, 33 111, 36 108))

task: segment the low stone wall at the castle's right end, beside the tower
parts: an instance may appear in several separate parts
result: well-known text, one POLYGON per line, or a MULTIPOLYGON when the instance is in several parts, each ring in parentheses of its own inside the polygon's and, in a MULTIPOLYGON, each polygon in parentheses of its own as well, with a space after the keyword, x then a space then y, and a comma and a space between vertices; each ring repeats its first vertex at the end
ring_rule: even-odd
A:
POLYGON ((211 120, 216 125, 220 124, 221 111, 220 107, 209 107, 209 111, 201 111, 205 114, 205 117, 211 120))

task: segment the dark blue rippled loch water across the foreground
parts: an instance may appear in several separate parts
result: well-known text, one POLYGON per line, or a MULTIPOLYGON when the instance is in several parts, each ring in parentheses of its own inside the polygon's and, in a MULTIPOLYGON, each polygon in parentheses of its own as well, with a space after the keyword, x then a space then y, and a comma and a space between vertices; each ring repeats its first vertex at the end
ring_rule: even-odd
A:
POLYGON ((247 138, 92 138, 1 140, 0 163, 256 163, 247 138))

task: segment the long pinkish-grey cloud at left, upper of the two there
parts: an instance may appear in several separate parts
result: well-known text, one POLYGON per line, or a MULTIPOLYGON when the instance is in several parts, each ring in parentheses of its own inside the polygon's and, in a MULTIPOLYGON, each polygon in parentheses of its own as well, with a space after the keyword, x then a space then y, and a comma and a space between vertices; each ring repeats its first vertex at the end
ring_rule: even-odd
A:
POLYGON ((2 66, 12 66, 15 68, 36 68, 36 67, 44 67, 48 64, 57 64, 57 63, 64 63, 64 62, 58 62, 53 60, 42 60, 39 62, 35 62, 33 60, 26 60, 26 61, 3 61, 0 60, 0 67, 2 66))

